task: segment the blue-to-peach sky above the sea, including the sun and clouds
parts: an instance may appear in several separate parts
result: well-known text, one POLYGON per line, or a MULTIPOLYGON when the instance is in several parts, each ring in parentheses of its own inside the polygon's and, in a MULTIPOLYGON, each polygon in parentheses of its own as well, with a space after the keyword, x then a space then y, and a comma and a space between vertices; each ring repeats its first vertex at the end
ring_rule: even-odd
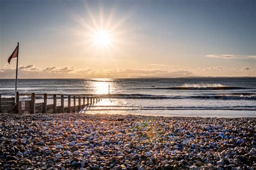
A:
POLYGON ((256 1, 0 0, 0 79, 256 76, 256 1))

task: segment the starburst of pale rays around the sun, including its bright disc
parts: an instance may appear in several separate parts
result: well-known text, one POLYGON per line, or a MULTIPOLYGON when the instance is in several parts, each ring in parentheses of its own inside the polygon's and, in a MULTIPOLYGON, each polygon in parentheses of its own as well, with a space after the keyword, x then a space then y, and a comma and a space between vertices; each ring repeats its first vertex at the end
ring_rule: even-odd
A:
POLYGON ((80 39, 77 45, 83 47, 87 54, 95 54, 98 58, 111 56, 111 54, 124 54, 123 45, 129 42, 127 34, 130 28, 125 21, 131 15, 131 10, 123 17, 119 17, 116 8, 104 11, 99 4, 98 12, 91 10, 84 4, 85 15, 75 15, 74 19, 79 26, 73 27, 73 32, 80 39))

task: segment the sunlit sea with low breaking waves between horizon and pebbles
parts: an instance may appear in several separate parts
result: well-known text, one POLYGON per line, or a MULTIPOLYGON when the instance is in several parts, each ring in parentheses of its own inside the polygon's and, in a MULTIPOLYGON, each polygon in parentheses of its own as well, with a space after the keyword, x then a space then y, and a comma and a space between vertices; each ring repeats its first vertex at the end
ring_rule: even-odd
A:
MULTIPOLYGON (((36 94, 109 94, 80 113, 148 116, 256 117, 256 77, 172 79, 19 79, 21 100, 36 94)), ((0 79, 2 97, 14 96, 15 80, 0 79)), ((58 98, 58 102, 59 98, 58 98)), ((66 102, 65 102, 66 103, 66 102)))

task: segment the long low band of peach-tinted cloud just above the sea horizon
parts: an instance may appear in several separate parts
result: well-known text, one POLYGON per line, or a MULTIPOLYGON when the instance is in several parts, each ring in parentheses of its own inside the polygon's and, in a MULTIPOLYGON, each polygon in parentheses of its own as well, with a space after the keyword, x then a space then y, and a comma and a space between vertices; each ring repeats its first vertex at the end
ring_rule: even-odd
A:
MULTIPOLYGON (((214 66, 197 69, 91 69, 91 68, 74 68, 56 66, 38 68, 35 65, 21 66, 18 78, 129 78, 129 77, 184 77, 184 76, 226 76, 232 75, 248 76, 255 75, 255 69, 251 67, 244 68, 226 68, 214 66)), ((0 77, 2 79, 14 79, 15 68, 0 68, 0 77)))

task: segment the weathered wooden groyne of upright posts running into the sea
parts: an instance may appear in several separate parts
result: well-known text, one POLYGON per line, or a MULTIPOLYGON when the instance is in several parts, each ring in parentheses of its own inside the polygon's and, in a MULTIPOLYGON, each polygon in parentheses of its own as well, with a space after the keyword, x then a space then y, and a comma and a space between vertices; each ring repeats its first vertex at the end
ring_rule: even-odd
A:
POLYGON ((15 104, 15 97, 2 97, 0 94, 0 113, 16 113, 23 114, 29 112, 35 113, 56 113, 56 112, 76 112, 80 111, 82 108, 95 104, 102 100, 102 97, 98 96, 82 96, 82 95, 57 95, 53 94, 52 99, 49 99, 48 94, 43 95, 43 102, 36 103, 36 94, 31 94, 31 100, 22 100, 17 91, 17 98, 15 104), (67 97, 66 97, 67 96, 67 97), (68 100, 65 101, 65 98, 68 100), (78 104, 77 104, 78 99, 78 104), (49 100, 53 100, 53 104, 48 104, 49 100), (60 101, 59 101, 60 100, 60 101), (71 100, 73 104, 71 105, 71 100), (68 104, 65 107, 65 102, 68 104), (58 105, 60 103, 60 105, 58 105))

